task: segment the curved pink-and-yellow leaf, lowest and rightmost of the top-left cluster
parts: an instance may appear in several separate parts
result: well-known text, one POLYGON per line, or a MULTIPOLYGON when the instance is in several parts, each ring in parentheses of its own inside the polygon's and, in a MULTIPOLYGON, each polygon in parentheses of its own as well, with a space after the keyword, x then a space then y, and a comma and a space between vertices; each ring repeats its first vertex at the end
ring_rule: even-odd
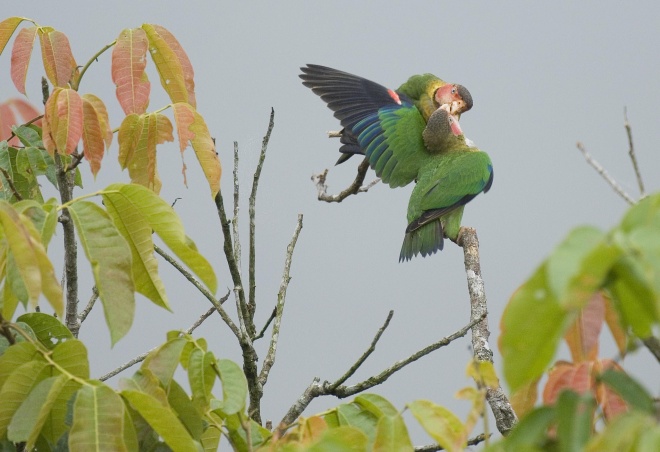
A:
POLYGON ((215 198, 215 195, 220 191, 222 166, 218 154, 215 152, 215 143, 211 138, 206 122, 188 104, 177 103, 173 105, 173 108, 181 152, 186 148, 188 142, 192 144, 197 160, 211 188, 211 196, 215 198))

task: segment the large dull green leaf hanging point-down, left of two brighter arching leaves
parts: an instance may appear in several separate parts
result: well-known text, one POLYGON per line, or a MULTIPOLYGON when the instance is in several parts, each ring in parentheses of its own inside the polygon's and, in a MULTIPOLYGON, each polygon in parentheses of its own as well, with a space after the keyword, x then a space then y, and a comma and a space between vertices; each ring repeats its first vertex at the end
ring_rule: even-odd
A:
POLYGON ((77 201, 69 213, 103 302, 112 344, 124 337, 133 323, 135 296, 131 275, 131 252, 108 213, 90 201, 77 201))

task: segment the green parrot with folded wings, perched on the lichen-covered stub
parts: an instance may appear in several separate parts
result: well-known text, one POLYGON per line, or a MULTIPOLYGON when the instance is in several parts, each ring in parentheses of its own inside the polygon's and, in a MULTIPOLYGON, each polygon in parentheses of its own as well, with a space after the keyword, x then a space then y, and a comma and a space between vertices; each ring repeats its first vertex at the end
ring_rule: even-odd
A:
POLYGON ((408 202, 408 227, 399 262, 442 250, 444 237, 456 241, 465 204, 493 183, 493 164, 469 145, 449 108, 438 108, 422 132, 427 146, 440 149, 419 170, 408 202))

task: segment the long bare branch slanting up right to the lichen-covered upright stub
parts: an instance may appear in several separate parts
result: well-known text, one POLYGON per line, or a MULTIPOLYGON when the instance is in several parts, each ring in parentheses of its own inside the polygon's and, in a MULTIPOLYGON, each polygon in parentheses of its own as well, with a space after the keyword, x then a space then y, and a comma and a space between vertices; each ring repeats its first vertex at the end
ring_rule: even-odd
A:
MULTIPOLYGON (((485 316, 484 316, 484 318, 485 318, 485 316)), ((337 381, 344 378, 344 376, 340 377, 337 381, 335 381, 333 383, 331 383, 329 381, 325 381, 324 383, 321 383, 320 378, 314 377, 314 379, 312 380, 312 383, 310 383, 310 385, 305 389, 303 394, 298 398, 298 400, 291 406, 291 408, 289 408, 289 411, 284 415, 284 417, 282 418, 282 420, 280 421, 280 423, 277 427, 277 433, 276 434, 277 435, 283 435, 284 432, 289 427, 289 425, 291 425, 298 418, 298 416, 300 416, 302 414, 302 412, 305 410, 305 408, 307 408, 307 406, 316 397, 325 396, 325 395, 333 395, 335 397, 343 399, 345 397, 349 397, 353 394, 357 394, 358 392, 365 391, 369 388, 372 388, 372 387, 377 386, 381 383, 384 383, 395 372, 401 370, 403 367, 407 366, 408 364, 410 364, 414 361, 417 361, 418 359, 422 358, 423 356, 428 355, 432 351, 435 351, 439 348, 442 348, 442 347, 445 347, 446 345, 449 345, 451 342, 458 339, 459 337, 465 336, 467 334, 467 332, 470 331, 470 329, 474 325, 476 325, 478 322, 480 322, 482 320, 483 320, 483 318, 481 318, 481 317, 472 320, 470 323, 468 323, 466 326, 464 326, 460 330, 456 331, 455 333, 440 339, 439 341, 437 341, 437 342, 435 342, 435 343, 433 343, 433 344, 417 351, 416 353, 413 353, 412 355, 410 355, 406 359, 395 362, 390 367, 388 367, 387 369, 380 372, 378 375, 374 375, 372 377, 369 377, 364 381, 361 381, 357 384, 354 384, 353 386, 344 386, 342 384, 336 384, 337 381)), ((385 328, 385 325, 383 327, 381 327, 381 330, 383 330, 384 328, 385 328)), ((381 334, 382 334, 381 330, 379 330, 378 333, 376 333, 376 336, 374 337, 374 340, 372 341, 371 345, 369 346, 369 349, 371 349, 372 347, 375 348, 376 343, 378 342, 378 339, 380 339, 380 337, 381 337, 381 334)), ((359 360, 358 360, 358 362, 359 362, 359 360)))

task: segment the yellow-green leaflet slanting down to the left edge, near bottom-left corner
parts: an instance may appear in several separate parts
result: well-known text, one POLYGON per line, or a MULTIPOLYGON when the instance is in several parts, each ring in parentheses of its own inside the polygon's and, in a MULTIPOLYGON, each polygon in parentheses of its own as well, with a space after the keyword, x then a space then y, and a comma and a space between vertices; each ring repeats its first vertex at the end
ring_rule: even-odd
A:
POLYGON ((27 362, 7 378, 0 390, 0 438, 5 435, 14 413, 28 397, 34 385, 45 378, 47 364, 42 360, 27 362))

